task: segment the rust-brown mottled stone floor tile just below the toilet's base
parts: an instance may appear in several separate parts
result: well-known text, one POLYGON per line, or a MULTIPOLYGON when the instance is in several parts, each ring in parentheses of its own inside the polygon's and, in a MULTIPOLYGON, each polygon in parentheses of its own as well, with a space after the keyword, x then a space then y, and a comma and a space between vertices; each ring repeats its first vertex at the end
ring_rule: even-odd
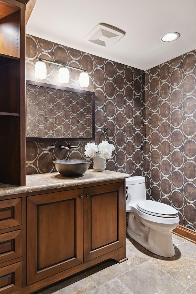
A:
POLYGON ((175 252, 173 257, 152 258, 150 262, 188 287, 196 281, 196 261, 177 250, 175 252))

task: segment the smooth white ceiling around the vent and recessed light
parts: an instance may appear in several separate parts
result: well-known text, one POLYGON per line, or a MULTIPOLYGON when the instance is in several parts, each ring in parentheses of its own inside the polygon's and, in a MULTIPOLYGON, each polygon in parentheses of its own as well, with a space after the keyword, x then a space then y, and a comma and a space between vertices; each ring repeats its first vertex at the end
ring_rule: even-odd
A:
POLYGON ((196 0, 37 0, 26 33, 148 70, 196 49, 196 0), (86 42, 99 23, 126 34, 108 48, 86 42), (160 41, 168 32, 179 39, 160 41))

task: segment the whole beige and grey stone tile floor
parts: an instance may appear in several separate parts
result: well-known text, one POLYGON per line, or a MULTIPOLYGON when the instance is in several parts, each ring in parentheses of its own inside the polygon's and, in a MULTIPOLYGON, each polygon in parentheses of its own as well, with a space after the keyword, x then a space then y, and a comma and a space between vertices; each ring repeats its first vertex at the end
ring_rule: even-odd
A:
POLYGON ((109 260, 36 294, 196 294, 196 244, 172 238, 176 253, 164 258, 127 235, 126 262, 109 260))

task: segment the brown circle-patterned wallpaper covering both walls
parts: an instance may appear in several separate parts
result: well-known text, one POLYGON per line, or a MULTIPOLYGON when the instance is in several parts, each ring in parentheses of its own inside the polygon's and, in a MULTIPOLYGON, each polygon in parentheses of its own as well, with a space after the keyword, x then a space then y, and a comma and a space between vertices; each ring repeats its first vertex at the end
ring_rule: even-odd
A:
MULTIPOLYGON (((38 57, 88 70, 89 87, 83 90, 95 92, 96 144, 105 140, 103 131, 108 128, 109 142, 115 145, 106 169, 145 176, 147 198, 175 207, 180 224, 192 230, 196 230, 195 54, 191 51, 144 72, 26 35, 26 79, 62 85, 48 63, 47 77, 36 79, 38 57)), ((81 89, 79 74, 72 70, 64 86, 81 89)), ((86 159, 86 143, 73 142, 76 148, 66 151, 55 139, 27 141, 26 173, 54 172, 52 161, 57 159, 86 159)))

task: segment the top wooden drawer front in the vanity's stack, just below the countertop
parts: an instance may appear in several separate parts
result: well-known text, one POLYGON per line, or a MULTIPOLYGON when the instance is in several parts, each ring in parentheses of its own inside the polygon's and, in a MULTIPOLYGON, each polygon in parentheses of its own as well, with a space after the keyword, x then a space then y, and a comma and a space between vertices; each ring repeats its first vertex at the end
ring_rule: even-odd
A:
POLYGON ((0 201, 0 230, 22 224, 21 198, 0 201))

